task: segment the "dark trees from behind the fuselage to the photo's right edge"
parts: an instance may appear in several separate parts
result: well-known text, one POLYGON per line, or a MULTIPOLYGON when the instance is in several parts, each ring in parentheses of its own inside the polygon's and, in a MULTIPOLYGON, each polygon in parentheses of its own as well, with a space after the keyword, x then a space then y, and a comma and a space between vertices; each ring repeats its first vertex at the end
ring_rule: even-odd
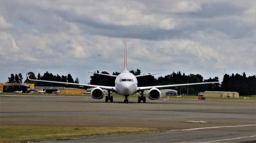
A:
MULTIPOLYGON (((130 71, 134 75, 140 75, 139 69, 136 71, 130 71)), ((97 73, 109 74, 106 71, 97 73)), ((113 72, 112 75, 118 75, 119 72, 113 72)), ((149 73, 150 74, 150 73, 149 73)), ((89 84, 102 85, 102 86, 114 86, 115 78, 110 76, 104 76, 99 74, 93 74, 90 76, 91 80, 89 84)), ((222 77, 221 77, 222 78, 222 77)), ((200 74, 186 75, 178 72, 172 72, 166 76, 160 76, 154 78, 154 76, 142 76, 138 77, 138 86, 157 86, 157 85, 169 85, 169 84, 186 84, 186 83, 199 83, 199 82, 217 82, 218 76, 214 78, 204 79, 200 74)), ((221 79, 220 79, 221 80, 221 79)), ((203 84, 193 86, 179 86, 178 88, 172 87, 168 89, 178 90, 178 94, 197 95, 198 92, 204 91, 232 91, 238 92, 240 96, 255 95, 256 94, 256 76, 246 76, 245 72, 240 74, 225 74, 223 82, 216 84, 203 84)))

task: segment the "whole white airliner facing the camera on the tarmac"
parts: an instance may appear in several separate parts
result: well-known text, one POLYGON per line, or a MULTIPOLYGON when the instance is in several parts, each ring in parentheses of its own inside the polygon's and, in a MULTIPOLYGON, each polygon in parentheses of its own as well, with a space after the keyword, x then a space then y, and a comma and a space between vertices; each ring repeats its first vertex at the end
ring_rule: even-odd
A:
MULTIPOLYGON (((36 81, 36 82, 50 82, 50 83, 58 83, 58 84, 69 84, 69 85, 78 85, 78 86, 88 86, 88 87, 94 87, 91 91, 91 97, 94 99, 102 99, 104 98, 104 91, 107 90, 108 94, 105 98, 105 102, 113 102, 113 92, 120 94, 124 96, 124 103, 128 103, 128 97, 132 94, 139 93, 140 96, 138 96, 138 103, 146 102, 146 97, 144 96, 144 90, 148 91, 148 98, 150 100, 157 100, 161 97, 161 92, 159 89, 164 88, 170 88, 170 87, 178 87, 178 86, 188 86, 188 85, 198 85, 198 84, 214 84, 214 83, 220 83, 223 81, 224 74, 222 77, 222 80, 219 82, 202 82, 202 83, 190 83, 190 84, 172 84, 172 85, 160 85, 160 86, 144 86, 144 87, 138 87, 138 80, 137 78, 140 78, 142 76, 149 76, 154 74, 160 74, 160 73, 154 73, 154 74, 143 74, 143 75, 134 75, 130 73, 127 70, 127 53, 126 53, 126 37, 125 37, 125 46, 124 46, 124 71, 120 74, 116 75, 110 75, 110 74, 102 74, 102 73, 95 73, 90 72, 94 74, 100 74, 104 76, 110 76, 114 77, 115 79, 115 86, 100 86, 100 85, 91 85, 91 84, 78 84, 78 83, 69 83, 69 82, 56 82, 56 81, 48 81, 48 80, 32 80, 29 78, 29 80, 36 81)), ((225 73, 225 70, 224 70, 225 73)))

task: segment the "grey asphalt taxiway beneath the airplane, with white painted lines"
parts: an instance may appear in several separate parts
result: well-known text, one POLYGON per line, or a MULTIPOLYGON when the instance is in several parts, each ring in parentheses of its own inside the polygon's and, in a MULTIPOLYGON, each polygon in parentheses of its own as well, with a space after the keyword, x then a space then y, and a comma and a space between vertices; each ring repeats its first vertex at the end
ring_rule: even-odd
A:
MULTIPOLYGON (((0 96, 1 125, 150 127, 158 133, 90 137, 67 142, 256 141, 255 103, 149 100, 114 103, 70 96, 0 96), (206 121, 189 123, 186 121, 206 121), (210 127, 210 128, 209 128, 210 127)), ((63 142, 63 141, 62 141, 63 142)))

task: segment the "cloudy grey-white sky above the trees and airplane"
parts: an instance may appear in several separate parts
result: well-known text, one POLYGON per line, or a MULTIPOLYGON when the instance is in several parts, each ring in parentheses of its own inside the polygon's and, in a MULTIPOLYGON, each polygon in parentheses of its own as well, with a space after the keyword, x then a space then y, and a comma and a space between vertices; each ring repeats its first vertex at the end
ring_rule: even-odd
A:
MULTIPOLYGON (((0 1, 0 82, 11 73, 256 73, 256 1, 0 1)), ((155 76, 157 77, 157 76, 155 76)), ((24 81, 24 80, 23 80, 24 81)))

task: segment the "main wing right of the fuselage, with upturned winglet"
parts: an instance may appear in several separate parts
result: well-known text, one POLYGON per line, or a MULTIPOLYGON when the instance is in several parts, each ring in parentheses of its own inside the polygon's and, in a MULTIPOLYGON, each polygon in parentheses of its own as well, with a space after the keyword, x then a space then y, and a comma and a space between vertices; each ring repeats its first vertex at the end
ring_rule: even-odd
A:
POLYGON ((160 86, 145 86, 145 87, 137 87, 137 92, 143 91, 143 90, 150 90, 151 88, 169 88, 169 87, 175 87, 175 86, 188 86, 188 85, 198 85, 198 84, 213 84, 213 83, 220 83, 224 79, 225 70, 222 76, 221 81, 217 82, 201 82, 201 83, 188 83, 188 84, 171 84, 171 85, 160 85, 160 86))

